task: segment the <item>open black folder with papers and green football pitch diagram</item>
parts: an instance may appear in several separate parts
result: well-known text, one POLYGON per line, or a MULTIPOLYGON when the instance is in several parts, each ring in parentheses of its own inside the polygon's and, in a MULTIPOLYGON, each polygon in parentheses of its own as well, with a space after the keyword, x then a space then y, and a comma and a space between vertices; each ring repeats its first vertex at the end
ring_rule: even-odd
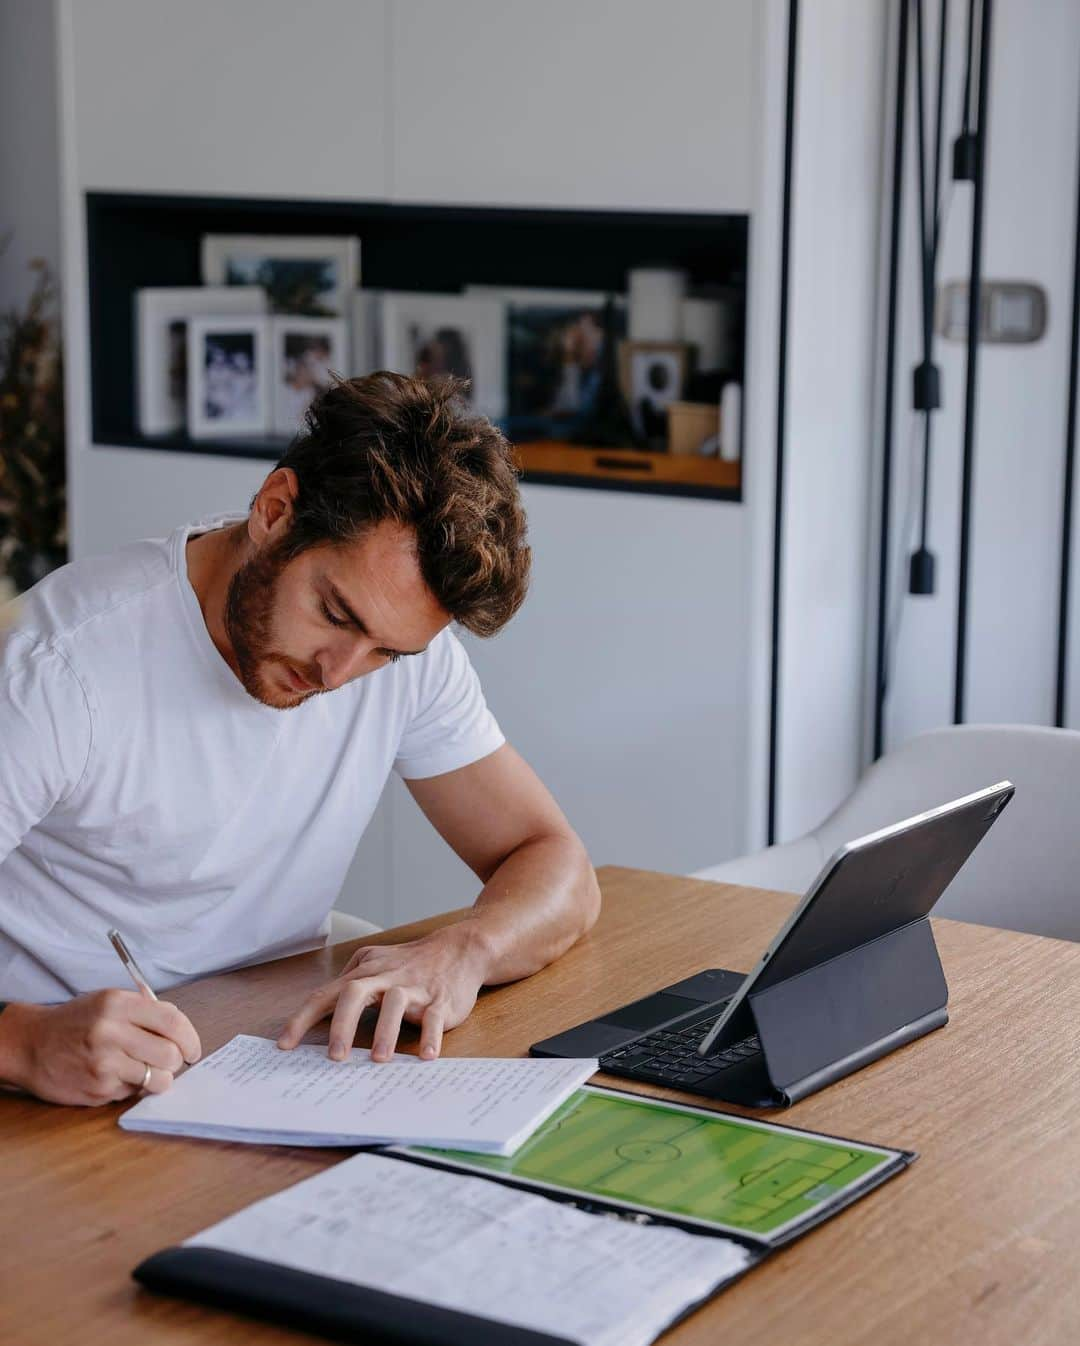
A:
POLYGON ((133 1275, 356 1341, 646 1346, 914 1158, 586 1086, 513 1158, 357 1155, 133 1275))

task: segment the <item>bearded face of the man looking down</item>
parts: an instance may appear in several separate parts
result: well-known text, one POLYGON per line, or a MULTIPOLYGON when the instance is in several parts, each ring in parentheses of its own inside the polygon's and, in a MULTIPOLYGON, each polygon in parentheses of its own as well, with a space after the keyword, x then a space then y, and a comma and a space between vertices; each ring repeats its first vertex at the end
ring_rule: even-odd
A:
POLYGON ((240 680, 279 711, 420 654, 448 623, 412 530, 391 522, 292 561, 267 545, 236 572, 225 603, 240 680))

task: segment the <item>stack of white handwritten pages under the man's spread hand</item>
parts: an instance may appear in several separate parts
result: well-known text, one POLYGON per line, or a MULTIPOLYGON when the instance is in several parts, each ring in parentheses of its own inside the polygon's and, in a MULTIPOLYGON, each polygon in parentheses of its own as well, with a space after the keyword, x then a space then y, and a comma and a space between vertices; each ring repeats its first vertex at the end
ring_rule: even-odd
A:
POLYGON ((120 1117, 128 1131, 283 1145, 388 1141, 512 1155, 598 1069, 595 1059, 373 1062, 354 1049, 281 1051, 237 1036, 120 1117))

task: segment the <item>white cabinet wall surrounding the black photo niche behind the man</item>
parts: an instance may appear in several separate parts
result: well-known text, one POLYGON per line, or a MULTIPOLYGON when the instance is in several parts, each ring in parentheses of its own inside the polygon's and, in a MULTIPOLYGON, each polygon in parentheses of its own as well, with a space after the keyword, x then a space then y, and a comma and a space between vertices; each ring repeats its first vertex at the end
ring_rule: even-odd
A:
MULTIPOLYGON (((269 467, 90 444, 86 188, 754 205, 757 100, 764 90, 777 94, 758 69, 753 0, 677 0, 663 24, 652 0, 559 0, 552 11, 501 0, 307 5, 306 31, 339 39, 329 57, 326 127, 323 104, 312 112, 288 98, 315 47, 292 28, 275 36, 252 26, 250 0, 198 0, 176 13, 163 0, 61 0, 75 555, 242 506, 269 467), (222 31, 228 62, 214 36, 222 31), (249 31, 259 32, 257 63, 245 59, 249 31), (349 108, 341 104, 345 74, 333 62, 356 48, 362 83, 380 43, 370 87, 382 90, 385 106, 349 160, 341 137, 353 133, 347 117, 358 94, 349 93, 349 108), (186 69, 198 66, 202 46, 214 54, 202 66, 205 97, 191 112, 172 70, 178 54, 186 69), (528 105, 522 70, 533 71, 537 90, 528 105), (267 109, 281 139, 252 125, 268 90, 290 110, 281 122, 280 109, 267 109), (312 144, 318 162, 308 172, 312 144), (440 179, 447 166, 454 171, 440 179)), ((533 595, 500 639, 474 646, 508 735, 551 783, 598 861, 688 870, 745 849, 742 507, 540 486, 525 487, 525 497, 533 595)), ((392 923, 474 891, 475 880, 404 790, 392 787, 361 844, 343 905, 392 923)))

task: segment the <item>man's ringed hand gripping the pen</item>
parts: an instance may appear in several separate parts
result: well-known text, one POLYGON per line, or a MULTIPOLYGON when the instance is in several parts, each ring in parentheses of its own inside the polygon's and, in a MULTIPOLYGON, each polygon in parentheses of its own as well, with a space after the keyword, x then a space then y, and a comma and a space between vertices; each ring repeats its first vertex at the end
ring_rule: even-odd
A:
POLYGON ((93 991, 0 1012, 0 1078, 48 1102, 98 1105, 164 1093, 202 1055, 187 1015, 139 991, 93 991))

